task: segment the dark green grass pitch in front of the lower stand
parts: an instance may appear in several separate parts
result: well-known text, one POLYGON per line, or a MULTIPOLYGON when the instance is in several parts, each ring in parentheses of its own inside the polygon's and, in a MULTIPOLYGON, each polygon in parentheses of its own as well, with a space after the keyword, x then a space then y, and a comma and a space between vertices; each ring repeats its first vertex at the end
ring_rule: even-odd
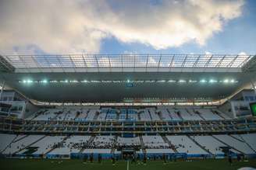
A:
MULTIPOLYGON (((0 167, 3 170, 127 170, 126 161, 117 161, 116 165, 112 165, 111 161, 102 161, 84 164, 80 160, 51 160, 51 159, 0 159, 0 167)), ((129 164, 129 170, 229 170, 242 167, 256 168, 256 160, 249 161, 233 161, 233 165, 229 165, 226 159, 219 160, 193 160, 193 161, 176 161, 163 164, 163 161, 148 161, 143 164, 129 164)))

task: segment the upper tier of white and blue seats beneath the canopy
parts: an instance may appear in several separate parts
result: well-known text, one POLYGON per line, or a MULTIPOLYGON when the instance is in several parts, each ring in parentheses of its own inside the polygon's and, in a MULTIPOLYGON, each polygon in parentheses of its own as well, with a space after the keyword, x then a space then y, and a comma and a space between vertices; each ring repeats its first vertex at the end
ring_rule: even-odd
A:
POLYGON ((158 121, 158 120, 230 120, 225 113, 213 107, 201 109, 199 106, 158 106, 144 109, 66 106, 56 109, 41 109, 27 117, 27 120, 77 120, 77 121, 158 121))

